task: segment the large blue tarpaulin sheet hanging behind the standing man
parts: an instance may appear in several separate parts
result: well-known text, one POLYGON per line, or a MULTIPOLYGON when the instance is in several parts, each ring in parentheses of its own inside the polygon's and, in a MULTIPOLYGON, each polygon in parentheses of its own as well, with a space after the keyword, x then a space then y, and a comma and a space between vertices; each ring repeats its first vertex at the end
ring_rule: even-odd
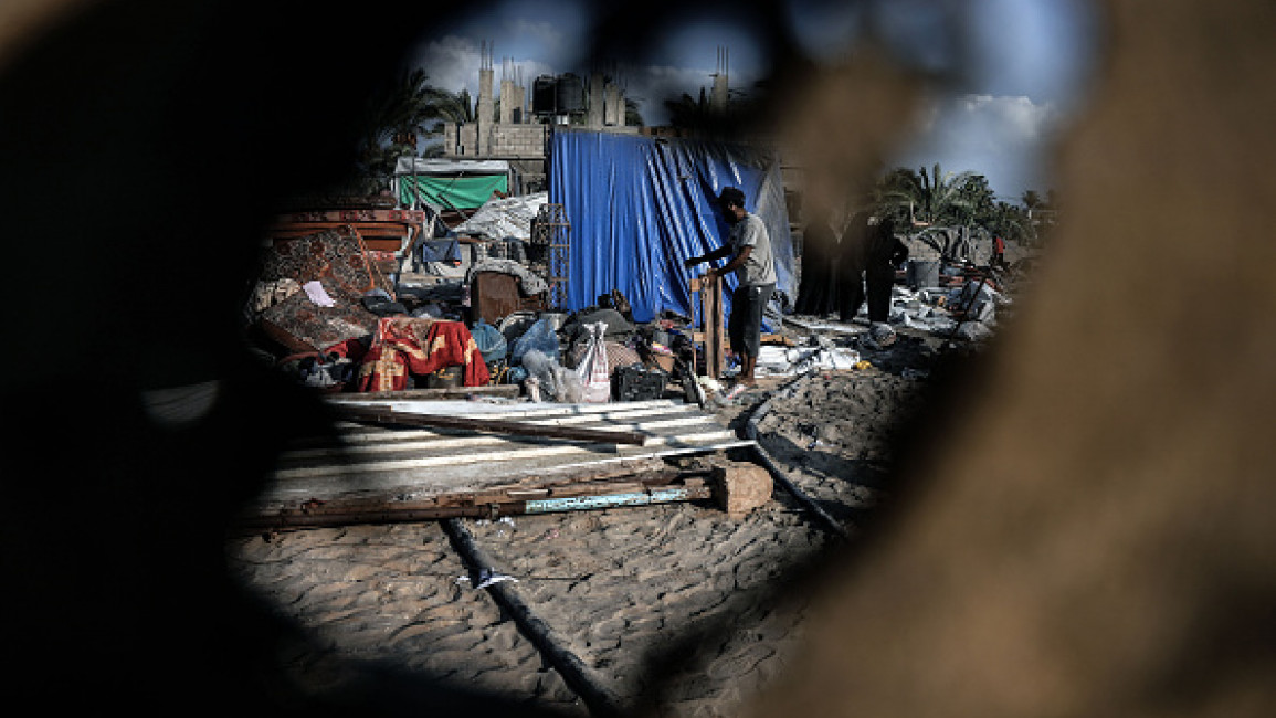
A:
MULTIPOLYGON (((746 209, 766 222, 777 293, 792 296, 789 212, 773 153, 578 130, 555 131, 550 152, 549 200, 563 205, 572 226, 564 309, 593 306, 620 289, 637 321, 665 310, 690 316, 690 278, 706 267, 686 270, 683 261, 726 241, 729 226, 715 201, 725 186, 744 190, 746 209)), ((734 275, 726 282, 735 288, 734 275)), ((727 295, 727 310, 730 301, 727 295)))

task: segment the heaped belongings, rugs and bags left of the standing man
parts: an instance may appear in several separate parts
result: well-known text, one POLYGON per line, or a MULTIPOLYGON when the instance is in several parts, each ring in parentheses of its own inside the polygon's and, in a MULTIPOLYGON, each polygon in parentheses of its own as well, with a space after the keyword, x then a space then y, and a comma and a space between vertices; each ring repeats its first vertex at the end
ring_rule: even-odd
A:
POLYGON ((324 393, 499 389, 538 402, 695 399, 690 320, 614 291, 561 312, 518 238, 370 250, 350 227, 274 240, 244 309, 254 351, 324 393))

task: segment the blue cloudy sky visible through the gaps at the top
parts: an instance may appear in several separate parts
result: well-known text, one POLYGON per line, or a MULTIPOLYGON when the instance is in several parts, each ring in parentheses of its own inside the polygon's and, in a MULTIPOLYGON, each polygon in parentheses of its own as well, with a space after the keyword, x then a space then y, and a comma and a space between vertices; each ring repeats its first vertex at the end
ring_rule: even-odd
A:
MULTIPOLYGON (((694 5, 694 4, 689 4, 694 5)), ((868 28, 898 57, 929 70, 963 68, 960 88, 930 99, 915 140, 894 165, 985 175, 1005 200, 1050 187, 1045 149, 1085 101, 1097 27, 1088 0, 786 0, 799 40, 815 59, 836 61, 868 28), (958 59, 961 62, 958 62, 958 59)), ((430 84, 477 96, 482 43, 491 46, 496 88, 507 68, 523 84, 542 74, 587 74, 578 52, 595 17, 584 0, 499 0, 482 13, 438 26, 410 57, 430 84)), ((760 45, 722 5, 671 19, 637 61, 616 66, 625 96, 647 124, 667 117, 664 99, 699 94, 730 54, 734 91, 767 74, 760 45)))

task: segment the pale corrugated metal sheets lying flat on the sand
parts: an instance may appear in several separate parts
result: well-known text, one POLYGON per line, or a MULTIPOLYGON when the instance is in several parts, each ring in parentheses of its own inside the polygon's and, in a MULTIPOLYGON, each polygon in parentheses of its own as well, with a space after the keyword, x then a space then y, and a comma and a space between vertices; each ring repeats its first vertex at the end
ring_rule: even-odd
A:
MULTIPOLYGON (((350 402, 345 402, 348 404, 350 402)), ((387 402, 375 402, 385 406, 387 402)), ((491 404, 481 402, 389 402, 396 412, 526 421, 602 431, 641 431, 643 446, 434 429, 342 425, 339 445, 299 445, 286 453, 262 506, 310 499, 384 497, 421 500, 478 491, 536 477, 598 469, 678 454, 748 446, 717 417, 695 404, 669 399, 611 404, 491 404)))

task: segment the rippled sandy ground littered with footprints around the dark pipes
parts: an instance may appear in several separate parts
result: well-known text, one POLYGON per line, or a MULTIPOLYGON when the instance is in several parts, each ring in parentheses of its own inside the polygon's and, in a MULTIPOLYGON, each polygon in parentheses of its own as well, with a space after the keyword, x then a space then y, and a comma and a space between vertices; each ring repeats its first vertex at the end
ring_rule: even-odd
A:
MULTIPOLYGON (((889 426, 925 381, 903 370, 924 372, 931 344, 901 334, 891 351, 864 353, 872 369, 767 377, 715 412, 741 436, 752 418, 776 465, 854 542, 857 523, 889 496, 889 426)), ((778 487, 743 519, 704 501, 464 525, 493 568, 517 580, 503 587, 592 680, 623 707, 658 715, 730 715, 783 675, 810 630, 801 582, 845 546, 778 487)), ((228 556, 251 593, 313 636, 277 656, 301 695, 341 691, 352 666, 366 663, 590 713, 493 596, 467 580, 439 523, 240 537, 228 556)))

